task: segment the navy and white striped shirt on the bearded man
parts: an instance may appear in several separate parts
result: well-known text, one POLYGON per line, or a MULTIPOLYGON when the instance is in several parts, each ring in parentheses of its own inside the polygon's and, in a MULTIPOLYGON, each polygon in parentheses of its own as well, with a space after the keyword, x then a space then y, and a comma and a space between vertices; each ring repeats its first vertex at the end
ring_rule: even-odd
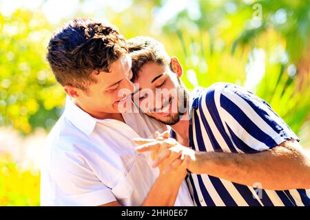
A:
MULTIPOLYGON (((189 146, 196 151, 258 153, 298 140, 267 102, 242 87, 216 83, 192 95, 189 146)), ((194 173, 187 184, 197 206, 310 206, 310 190, 258 190, 194 173)))

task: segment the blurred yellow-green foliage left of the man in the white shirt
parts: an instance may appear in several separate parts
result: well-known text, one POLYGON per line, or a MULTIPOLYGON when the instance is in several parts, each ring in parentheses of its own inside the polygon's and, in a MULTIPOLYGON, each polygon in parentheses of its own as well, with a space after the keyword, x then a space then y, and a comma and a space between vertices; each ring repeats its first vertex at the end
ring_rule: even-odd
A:
POLYGON ((0 125, 29 133, 58 118, 64 94, 45 61, 52 30, 41 12, 0 14, 0 125))

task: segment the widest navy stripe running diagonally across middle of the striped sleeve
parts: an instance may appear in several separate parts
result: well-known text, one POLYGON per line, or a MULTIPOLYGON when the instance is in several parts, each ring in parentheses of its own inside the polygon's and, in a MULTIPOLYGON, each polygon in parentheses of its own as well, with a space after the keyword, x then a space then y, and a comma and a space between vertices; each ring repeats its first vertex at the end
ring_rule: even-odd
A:
POLYGON ((229 100, 226 96, 220 96, 220 105, 225 109, 235 120, 256 140, 265 143, 269 148, 277 146, 278 144, 273 140, 272 137, 267 135, 264 131, 252 122, 247 115, 234 103, 229 100))

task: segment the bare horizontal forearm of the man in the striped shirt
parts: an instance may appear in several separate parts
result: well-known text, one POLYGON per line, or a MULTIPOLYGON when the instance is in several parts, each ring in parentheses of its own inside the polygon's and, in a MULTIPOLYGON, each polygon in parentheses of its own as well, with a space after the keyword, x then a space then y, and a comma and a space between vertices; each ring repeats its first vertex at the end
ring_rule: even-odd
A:
MULTIPOLYGON (((205 173, 247 186, 285 190, 310 188, 309 159, 287 148, 255 154, 203 152, 197 155, 194 173, 205 173), (259 186, 259 185, 256 186, 259 186)), ((189 166, 189 170, 194 166, 189 166)))

